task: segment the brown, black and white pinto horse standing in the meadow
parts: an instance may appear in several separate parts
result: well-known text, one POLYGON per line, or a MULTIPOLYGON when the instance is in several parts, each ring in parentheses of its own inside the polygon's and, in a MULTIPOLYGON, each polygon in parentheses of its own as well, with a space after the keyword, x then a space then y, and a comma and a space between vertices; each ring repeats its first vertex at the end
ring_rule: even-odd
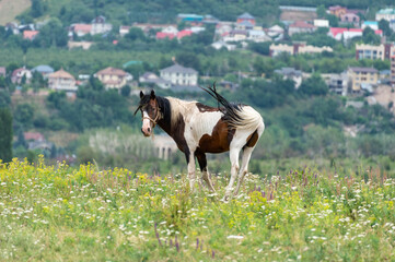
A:
POLYGON ((139 110, 141 111, 141 132, 144 136, 153 134, 153 129, 158 124, 173 138, 178 150, 185 154, 191 190, 196 180, 195 157, 199 163, 202 180, 210 191, 216 192, 207 169, 206 153, 218 154, 229 151, 231 178, 223 198, 228 201, 233 192, 237 174, 237 187, 233 194, 239 194, 248 170, 251 155, 265 130, 265 124, 259 112, 251 106, 229 103, 218 94, 216 84, 212 87, 201 88, 217 100, 218 107, 206 106, 196 100, 156 96, 154 91, 150 94, 141 91, 135 116, 139 110), (240 168, 239 156, 242 150, 240 168))

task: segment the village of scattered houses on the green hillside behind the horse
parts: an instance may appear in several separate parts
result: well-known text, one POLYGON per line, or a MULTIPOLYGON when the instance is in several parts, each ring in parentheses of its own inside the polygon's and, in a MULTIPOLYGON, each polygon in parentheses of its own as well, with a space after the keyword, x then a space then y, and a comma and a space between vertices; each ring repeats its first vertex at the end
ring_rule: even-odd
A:
MULTIPOLYGON (((361 17, 364 10, 350 10, 345 7, 334 5, 325 10, 326 14, 336 16, 338 26, 330 26, 330 22, 325 19, 317 19, 317 8, 305 7, 280 7, 280 22, 269 27, 264 27, 257 23, 256 19, 245 12, 234 17, 233 21, 220 21, 209 14, 187 14, 179 13, 174 17, 173 24, 133 23, 131 25, 120 25, 118 36, 127 37, 131 31, 138 29, 146 37, 155 41, 176 40, 183 41, 193 35, 202 34, 207 26, 214 26, 214 36, 211 47, 214 50, 228 50, 229 52, 247 49, 249 45, 269 44, 267 56, 277 59, 283 56, 301 56, 322 53, 325 56, 336 55, 329 46, 313 46, 305 41, 290 40, 298 34, 313 34, 317 31, 326 31, 327 37, 342 43, 345 46, 352 43, 355 38, 361 38, 367 28, 379 37, 376 45, 356 43, 355 60, 381 60, 390 61, 390 69, 377 70, 372 67, 348 66, 347 70, 340 73, 322 73, 328 90, 339 96, 351 98, 348 106, 362 107, 364 103, 369 105, 380 104, 395 114, 395 44, 386 41, 383 31, 380 29, 381 21, 387 23, 391 31, 395 31, 395 9, 381 9, 375 14, 375 21, 363 21, 361 17), (179 26, 182 25, 182 26, 179 26), (352 100, 357 98, 356 100, 352 100), (360 99, 362 98, 362 99, 360 99)), ((18 24, 8 23, 5 29, 14 35, 22 35, 25 40, 34 40, 40 34, 40 28, 45 23, 18 24)), ((98 15, 91 23, 74 23, 68 26, 68 48, 80 48, 89 50, 96 45, 94 38, 85 40, 86 36, 101 35, 106 37, 114 32, 114 26, 103 15, 98 15)), ((118 40, 112 43, 118 45, 118 40)), ((0 61, 1 62, 1 61, 0 61)), ((7 72, 7 64, 0 64, 0 78, 10 78, 16 86, 14 95, 24 93, 23 86, 37 81, 45 86, 38 92, 27 91, 24 95, 47 96, 50 92, 65 92, 70 99, 75 98, 79 86, 83 88, 91 78, 98 80, 106 90, 116 90, 119 93, 125 86, 130 88, 130 94, 138 94, 140 90, 160 88, 172 92, 201 92, 199 85, 207 75, 199 75, 197 69, 183 67, 176 60, 169 67, 161 68, 159 73, 147 71, 133 78, 127 72, 130 64, 142 64, 142 61, 125 61, 123 68, 106 67, 90 74, 73 75, 63 68, 55 70, 48 64, 37 64, 34 68, 18 68, 12 72, 7 72)), ((300 69, 282 67, 274 70, 276 75, 292 80, 294 88, 299 88, 303 81, 311 78, 312 72, 303 72, 300 69)), ((239 79, 265 79, 266 75, 252 74, 251 72, 237 72, 239 79)), ((240 81, 228 81, 222 79, 218 86, 236 91, 240 81)), ((30 148, 47 148, 53 146, 40 133, 25 132, 25 140, 30 141, 30 148)), ((162 142, 161 142, 162 143, 162 142)), ((162 143, 163 144, 163 143, 162 143)), ((159 145, 160 155, 166 155, 172 146, 159 145), (166 152, 164 154, 163 152, 166 152)), ((174 146, 173 146, 174 147, 174 146)))

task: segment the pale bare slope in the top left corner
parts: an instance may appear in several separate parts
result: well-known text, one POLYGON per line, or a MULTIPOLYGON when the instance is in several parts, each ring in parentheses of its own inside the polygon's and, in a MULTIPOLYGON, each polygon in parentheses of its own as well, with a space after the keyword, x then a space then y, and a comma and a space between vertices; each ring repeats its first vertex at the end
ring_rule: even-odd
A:
POLYGON ((31 7, 31 0, 0 0, 0 25, 12 22, 31 7))

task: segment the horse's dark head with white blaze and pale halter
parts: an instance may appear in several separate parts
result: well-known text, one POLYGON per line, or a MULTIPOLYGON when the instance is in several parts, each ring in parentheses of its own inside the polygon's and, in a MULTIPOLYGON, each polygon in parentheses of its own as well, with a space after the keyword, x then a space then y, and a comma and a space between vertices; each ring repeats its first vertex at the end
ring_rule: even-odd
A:
POLYGON ((138 110, 141 111, 142 116, 141 132, 144 134, 144 136, 150 136, 153 133, 156 121, 161 116, 154 91, 151 91, 151 94, 149 95, 144 95, 142 91, 140 92, 140 103, 139 107, 135 111, 135 115, 138 110))

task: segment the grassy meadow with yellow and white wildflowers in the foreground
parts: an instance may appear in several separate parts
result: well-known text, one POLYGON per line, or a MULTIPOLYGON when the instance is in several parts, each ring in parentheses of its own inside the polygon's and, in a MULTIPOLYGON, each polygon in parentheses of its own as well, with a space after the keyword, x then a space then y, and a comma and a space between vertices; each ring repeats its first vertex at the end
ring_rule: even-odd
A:
POLYGON ((390 261, 395 180, 380 169, 249 175, 242 194, 185 175, 0 164, 2 261, 390 261))

